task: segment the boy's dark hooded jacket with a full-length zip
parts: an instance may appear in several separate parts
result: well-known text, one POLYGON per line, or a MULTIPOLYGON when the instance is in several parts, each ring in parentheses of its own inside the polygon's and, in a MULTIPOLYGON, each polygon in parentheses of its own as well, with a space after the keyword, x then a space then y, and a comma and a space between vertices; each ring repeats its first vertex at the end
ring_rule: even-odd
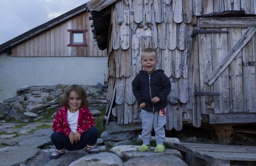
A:
POLYGON ((139 104, 146 103, 144 110, 154 112, 166 107, 171 82, 162 69, 157 68, 150 75, 141 70, 132 81, 132 91, 139 104), (158 97, 160 101, 153 103, 154 97, 158 97))

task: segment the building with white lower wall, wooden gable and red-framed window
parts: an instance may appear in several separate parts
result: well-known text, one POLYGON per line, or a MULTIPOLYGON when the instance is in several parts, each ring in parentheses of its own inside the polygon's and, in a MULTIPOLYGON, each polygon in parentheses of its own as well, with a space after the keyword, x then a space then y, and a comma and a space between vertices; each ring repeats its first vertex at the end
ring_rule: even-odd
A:
POLYGON ((104 84, 107 53, 83 4, 0 45, 0 101, 27 86, 104 84), (95 74, 97 73, 97 74, 95 74))

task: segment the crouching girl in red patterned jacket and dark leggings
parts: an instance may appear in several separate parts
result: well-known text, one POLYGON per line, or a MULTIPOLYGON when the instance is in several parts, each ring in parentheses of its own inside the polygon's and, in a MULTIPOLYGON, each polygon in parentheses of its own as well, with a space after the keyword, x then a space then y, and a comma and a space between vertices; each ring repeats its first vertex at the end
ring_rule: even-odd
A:
POLYGON ((62 98, 63 106, 53 121, 51 135, 52 143, 56 150, 50 158, 61 157, 65 149, 69 151, 80 150, 86 146, 88 154, 100 153, 95 148, 99 131, 95 128, 95 122, 89 109, 87 94, 79 85, 69 85, 62 98))

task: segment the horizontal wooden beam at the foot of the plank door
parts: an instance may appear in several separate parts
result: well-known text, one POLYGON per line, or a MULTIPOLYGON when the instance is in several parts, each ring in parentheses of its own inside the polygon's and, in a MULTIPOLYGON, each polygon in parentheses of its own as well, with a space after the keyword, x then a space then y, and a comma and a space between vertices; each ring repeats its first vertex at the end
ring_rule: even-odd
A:
POLYGON ((209 124, 254 123, 256 114, 210 114, 209 124))

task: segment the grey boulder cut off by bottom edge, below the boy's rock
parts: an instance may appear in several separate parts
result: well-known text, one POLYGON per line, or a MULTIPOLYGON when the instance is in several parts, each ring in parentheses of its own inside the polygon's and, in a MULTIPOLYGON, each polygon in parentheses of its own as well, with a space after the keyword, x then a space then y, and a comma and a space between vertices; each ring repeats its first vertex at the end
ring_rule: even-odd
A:
POLYGON ((188 166, 182 159, 173 155, 159 155, 155 154, 143 158, 133 158, 123 164, 123 166, 188 166))

